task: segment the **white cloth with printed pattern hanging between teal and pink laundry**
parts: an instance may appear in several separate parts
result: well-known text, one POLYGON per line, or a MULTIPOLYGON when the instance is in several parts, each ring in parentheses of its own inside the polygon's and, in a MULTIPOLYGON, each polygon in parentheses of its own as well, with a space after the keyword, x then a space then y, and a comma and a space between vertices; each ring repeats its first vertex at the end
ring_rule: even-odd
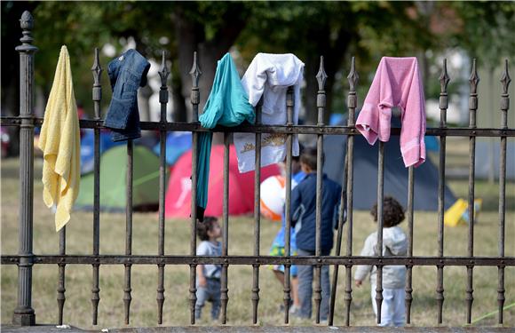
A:
MULTIPOLYGON (((300 109, 300 84, 303 80, 304 62, 294 54, 258 53, 242 77, 242 85, 249 102, 256 107, 263 97, 261 123, 285 125, 286 91, 293 86, 293 123, 298 123, 300 109)), ((234 133, 234 146, 238 155, 238 169, 248 172, 255 168, 256 136, 253 133, 234 133)), ((293 139, 293 155, 298 155, 297 135, 293 139)), ((286 135, 263 133, 261 136, 261 166, 280 163, 286 158, 286 135)))

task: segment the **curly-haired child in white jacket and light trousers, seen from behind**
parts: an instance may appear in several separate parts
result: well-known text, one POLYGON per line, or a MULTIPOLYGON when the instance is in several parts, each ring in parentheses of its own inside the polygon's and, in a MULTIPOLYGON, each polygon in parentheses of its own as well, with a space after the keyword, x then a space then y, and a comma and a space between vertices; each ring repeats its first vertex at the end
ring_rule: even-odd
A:
MULTIPOLYGON (((372 207, 370 214, 377 221, 377 204, 372 207)), ((408 242, 406 234, 397 226, 404 220, 404 210, 397 200, 391 196, 384 197, 383 203, 383 256, 406 256, 408 242)), ((368 235, 361 256, 377 256, 377 233, 368 235)), ((358 266, 354 274, 356 287, 361 287, 361 283, 370 273, 370 284, 372 287, 372 306, 377 316, 376 305, 376 266, 358 266)), ((381 305, 381 324, 380 326, 404 325, 405 305, 404 305, 404 283, 406 281, 405 266, 384 266, 383 267, 383 303, 381 305)))

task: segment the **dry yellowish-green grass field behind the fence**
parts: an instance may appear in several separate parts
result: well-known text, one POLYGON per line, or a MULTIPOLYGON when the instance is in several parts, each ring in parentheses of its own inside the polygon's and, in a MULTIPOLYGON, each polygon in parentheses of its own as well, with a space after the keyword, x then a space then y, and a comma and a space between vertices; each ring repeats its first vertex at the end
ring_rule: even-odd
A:
MULTIPOLYGON (((59 250, 59 235, 54 231, 50 210, 42 201, 40 174, 41 162, 36 161, 36 182, 34 198, 34 253, 55 254, 59 250)), ((467 182, 449 181, 456 196, 466 198, 467 182)), ((476 256, 496 256, 498 248, 498 187, 487 182, 476 183, 476 195, 485 200, 484 209, 479 215, 474 230, 474 254, 476 256)), ((515 256, 515 184, 507 186, 509 211, 506 214, 506 256, 515 256)), ((18 161, 2 161, 2 235, 3 254, 18 251, 18 209, 19 180, 18 161)), ((252 218, 230 218, 229 253, 232 255, 253 254, 252 218)), ((133 254, 156 254, 158 227, 157 214, 134 214, 133 254)), ((261 228, 261 253, 267 254, 279 225, 263 220, 261 228)), ((403 223, 404 228, 407 227, 403 223)), ((346 228, 345 228, 346 229, 346 228)), ((368 213, 356 211, 353 227, 353 253, 359 253, 366 236, 376 226, 368 213)), ((416 256, 437 255, 437 214, 416 211, 414 228, 414 253, 416 256)), ((165 252, 180 255, 189 253, 189 221, 170 219, 166 221, 165 252)), ((345 230, 346 232, 346 230, 345 230)), ((445 254, 466 256, 467 227, 445 228, 445 254)), ((123 254, 125 247, 124 214, 101 214, 100 253, 123 254)), ((345 243, 344 243, 345 248, 345 243)), ((92 214, 76 211, 67 225, 67 254, 91 254, 92 214)), ((1 274, 1 321, 9 323, 17 302, 17 267, 2 266, 1 274)), ((340 268, 337 285, 336 325, 345 324, 345 303, 343 290, 344 269, 340 268)), ((435 300, 436 267, 415 267, 413 269, 412 322, 416 326, 435 326, 437 303, 435 300)), ((331 273, 332 276, 332 273, 331 273)), ((166 266, 163 325, 179 326, 189 324, 189 267, 166 266)), ((100 266, 99 326, 91 325, 91 266, 68 265, 66 268, 66 303, 64 321, 83 329, 123 327, 123 266, 100 266)), ((282 313, 278 307, 282 301, 282 287, 274 280, 272 272, 265 266, 260 270, 259 323, 281 325, 282 313)), ((58 266, 36 265, 33 269, 33 308, 38 323, 57 322, 58 266)), ((250 325, 252 321, 252 267, 229 267, 228 323, 230 325, 250 325)), ((132 266, 131 326, 156 326, 157 267, 132 266)), ((444 270, 444 323, 448 326, 461 326, 466 321, 466 269, 448 266, 444 270)), ((515 269, 505 270, 506 303, 515 302, 515 269)), ((351 323, 353 325, 375 325, 369 296, 370 286, 366 283, 361 289, 353 289, 351 323)), ((474 268, 474 303, 472 320, 497 309, 497 267, 474 268)), ((209 309, 209 305, 208 305, 209 309)), ((207 313, 207 312, 205 312, 207 313)), ((204 317, 207 317, 204 314, 204 317)), ((504 312, 506 326, 515 326, 515 307, 504 312)), ((293 324, 311 324, 311 321, 292 321, 293 324)), ((209 320, 201 324, 211 324, 209 320)), ((495 325, 496 315, 489 316, 475 325, 495 325)))

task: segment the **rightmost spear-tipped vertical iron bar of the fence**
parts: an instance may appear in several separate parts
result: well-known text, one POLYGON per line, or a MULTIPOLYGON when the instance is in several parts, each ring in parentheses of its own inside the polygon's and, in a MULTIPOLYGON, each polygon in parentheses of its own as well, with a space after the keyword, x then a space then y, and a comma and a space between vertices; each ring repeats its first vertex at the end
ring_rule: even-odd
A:
MULTIPOLYGON (((501 127, 508 128, 508 109, 510 108, 510 94, 508 87, 511 83, 508 72, 508 59, 504 59, 504 72, 501 77, 503 83, 503 94, 501 95, 501 127)), ((506 137, 501 137, 501 151, 499 156, 499 257, 504 257, 504 225, 506 213, 506 137)), ((499 285, 497 288, 497 304, 499 305, 498 323, 503 324, 504 306, 504 266, 498 266, 499 285)))

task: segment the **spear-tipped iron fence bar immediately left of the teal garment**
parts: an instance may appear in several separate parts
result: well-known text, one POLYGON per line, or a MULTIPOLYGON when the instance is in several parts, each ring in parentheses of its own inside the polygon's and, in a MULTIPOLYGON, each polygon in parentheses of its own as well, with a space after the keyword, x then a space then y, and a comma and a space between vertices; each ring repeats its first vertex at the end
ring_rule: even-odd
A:
MULTIPOLYGON (((189 72, 192 76, 192 89, 191 89, 191 104, 193 108, 193 123, 199 121, 199 103, 201 93, 199 91, 199 78, 202 75, 201 68, 197 62, 197 52, 194 52, 193 66, 189 72)), ((199 133, 192 132, 192 170, 191 170, 191 232, 190 232, 190 255, 196 255, 196 221, 197 221, 197 170, 198 170, 198 140, 199 133)), ((196 297, 196 264, 189 266, 189 308, 190 308, 190 323, 195 323, 195 303, 196 297)))

